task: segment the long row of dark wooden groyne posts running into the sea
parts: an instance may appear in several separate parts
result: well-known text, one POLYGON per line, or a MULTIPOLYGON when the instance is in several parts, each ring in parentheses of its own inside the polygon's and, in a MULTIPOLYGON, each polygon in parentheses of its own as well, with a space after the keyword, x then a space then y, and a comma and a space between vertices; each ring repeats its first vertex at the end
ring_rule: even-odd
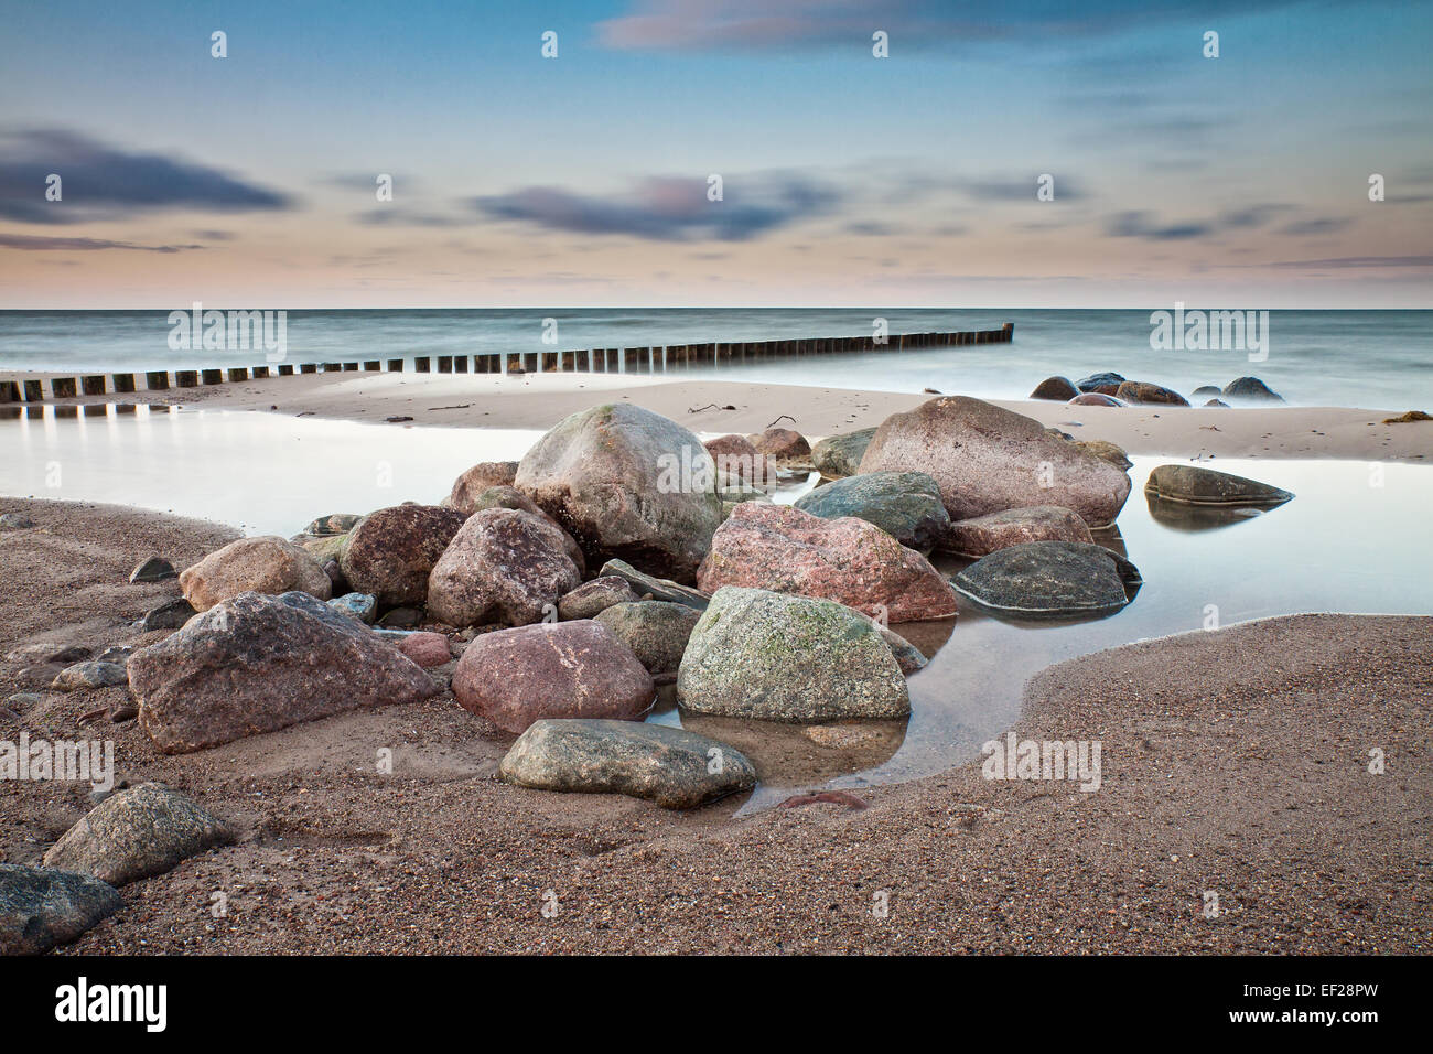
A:
MULTIPOLYGON (((668 344, 666 347, 590 348, 583 351, 487 351, 474 356, 416 356, 416 373, 671 373, 694 366, 742 363, 752 359, 825 356, 841 351, 901 351, 923 347, 963 344, 1009 344, 1015 323, 999 330, 966 333, 903 333, 888 337, 818 337, 814 340, 757 340, 714 344, 668 344), (471 367, 471 369, 470 369, 471 367)), ((265 377, 291 377, 295 373, 381 371, 401 373, 407 359, 368 359, 354 363, 278 363, 274 366, 229 367, 219 370, 150 370, 148 373, 85 374, 50 377, 50 399, 125 394, 192 389, 265 377)), ((40 403, 46 400, 44 379, 0 379, 0 403, 40 403)))

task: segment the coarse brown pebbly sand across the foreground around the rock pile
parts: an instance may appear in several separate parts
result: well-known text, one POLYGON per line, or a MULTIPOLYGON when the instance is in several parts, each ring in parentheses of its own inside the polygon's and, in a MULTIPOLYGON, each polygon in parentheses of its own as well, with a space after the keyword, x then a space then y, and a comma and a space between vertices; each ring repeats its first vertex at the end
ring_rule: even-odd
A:
MULTIPOLYGON (((232 536, 0 499, 11 511, 39 526, 0 543, 0 698, 33 690, 36 654, 158 638, 128 624, 176 589, 128 585, 130 568, 232 536)), ((512 737, 450 695, 182 757, 133 721, 92 726, 122 779, 191 794, 239 842, 125 886, 66 951, 1426 952, 1430 645, 1430 618, 1307 615, 1099 652, 1036 677, 1017 727, 1099 740, 1098 792, 974 764, 857 792, 867 809, 739 819, 735 800, 669 813, 496 783, 512 737), (374 771, 384 746, 393 776, 374 771)), ((44 693, 0 710, 0 737, 73 739, 125 697, 44 693)), ((0 859, 37 863, 87 807, 87 786, 0 783, 0 859)))

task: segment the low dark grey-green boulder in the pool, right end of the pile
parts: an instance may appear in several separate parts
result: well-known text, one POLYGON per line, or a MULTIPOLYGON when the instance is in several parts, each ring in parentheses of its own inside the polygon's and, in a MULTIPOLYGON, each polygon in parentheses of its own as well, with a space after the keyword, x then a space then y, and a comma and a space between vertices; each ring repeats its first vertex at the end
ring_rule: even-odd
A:
POLYGON ((1138 584, 1134 564, 1089 542, 1010 545, 956 575, 962 594, 1013 618, 1111 615, 1138 584))

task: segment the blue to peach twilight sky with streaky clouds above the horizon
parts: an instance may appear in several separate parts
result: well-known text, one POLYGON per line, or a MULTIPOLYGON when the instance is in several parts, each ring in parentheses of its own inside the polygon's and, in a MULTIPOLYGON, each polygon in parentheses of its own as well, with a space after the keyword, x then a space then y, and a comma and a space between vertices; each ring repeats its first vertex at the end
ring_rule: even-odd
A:
POLYGON ((0 26, 0 308, 1433 307, 1429 3, 0 26))

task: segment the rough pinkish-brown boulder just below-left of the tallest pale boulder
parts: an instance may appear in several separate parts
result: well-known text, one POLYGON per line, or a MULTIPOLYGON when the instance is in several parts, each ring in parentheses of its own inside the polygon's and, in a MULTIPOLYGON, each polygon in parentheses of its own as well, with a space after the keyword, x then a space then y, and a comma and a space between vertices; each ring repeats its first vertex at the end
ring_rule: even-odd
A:
POLYGON ((539 621, 582 584, 563 531, 522 509, 469 516, 428 576, 428 614, 449 625, 539 621))

